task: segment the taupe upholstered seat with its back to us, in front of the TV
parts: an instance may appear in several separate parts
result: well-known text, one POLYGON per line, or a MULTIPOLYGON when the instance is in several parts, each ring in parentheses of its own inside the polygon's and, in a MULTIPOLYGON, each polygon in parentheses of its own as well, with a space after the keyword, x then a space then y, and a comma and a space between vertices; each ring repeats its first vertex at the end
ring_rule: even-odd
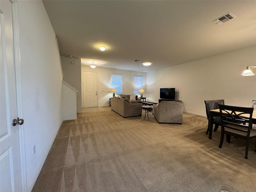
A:
POLYGON ((183 103, 162 101, 153 105, 153 114, 159 123, 182 124, 183 103))

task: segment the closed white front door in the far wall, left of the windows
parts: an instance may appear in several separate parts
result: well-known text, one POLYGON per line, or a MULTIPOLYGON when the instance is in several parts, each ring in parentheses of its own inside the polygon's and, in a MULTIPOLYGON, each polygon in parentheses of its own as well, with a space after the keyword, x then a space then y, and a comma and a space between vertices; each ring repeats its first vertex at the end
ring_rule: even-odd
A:
POLYGON ((97 72, 83 71, 83 107, 98 106, 97 72))

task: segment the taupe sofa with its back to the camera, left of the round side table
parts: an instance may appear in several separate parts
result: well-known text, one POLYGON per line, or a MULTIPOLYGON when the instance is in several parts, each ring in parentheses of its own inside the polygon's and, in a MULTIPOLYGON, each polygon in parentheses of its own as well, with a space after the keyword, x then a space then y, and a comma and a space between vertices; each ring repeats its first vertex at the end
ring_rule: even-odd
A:
POLYGON ((141 116, 142 103, 131 103, 125 98, 111 98, 111 110, 118 113, 122 117, 141 116))

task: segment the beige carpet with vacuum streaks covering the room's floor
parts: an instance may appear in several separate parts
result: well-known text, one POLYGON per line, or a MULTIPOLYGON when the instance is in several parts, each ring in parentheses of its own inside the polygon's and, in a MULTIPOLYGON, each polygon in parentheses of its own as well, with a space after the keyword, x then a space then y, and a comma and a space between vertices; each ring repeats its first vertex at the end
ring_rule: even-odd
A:
POLYGON ((64 121, 33 192, 254 192, 255 140, 218 148, 220 129, 205 134, 206 117, 183 124, 154 116, 122 118, 110 107, 86 108, 64 121))

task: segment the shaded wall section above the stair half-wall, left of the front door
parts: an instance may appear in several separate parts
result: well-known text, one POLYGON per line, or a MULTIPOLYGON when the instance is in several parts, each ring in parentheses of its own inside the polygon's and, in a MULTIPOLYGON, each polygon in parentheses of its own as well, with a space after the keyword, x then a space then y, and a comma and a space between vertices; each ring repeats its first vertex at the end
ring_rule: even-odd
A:
POLYGON ((82 113, 82 86, 81 86, 81 59, 74 57, 60 57, 63 69, 63 80, 75 88, 76 108, 78 113, 82 113), (76 64, 71 64, 75 62, 76 64))

